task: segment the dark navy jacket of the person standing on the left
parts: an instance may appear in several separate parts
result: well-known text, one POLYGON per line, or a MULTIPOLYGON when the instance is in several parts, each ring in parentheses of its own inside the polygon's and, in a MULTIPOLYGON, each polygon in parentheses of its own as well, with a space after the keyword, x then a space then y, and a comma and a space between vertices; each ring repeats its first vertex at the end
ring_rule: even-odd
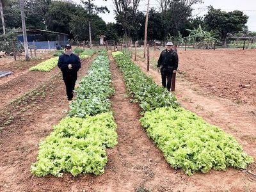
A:
POLYGON ((58 61, 58 67, 63 73, 76 73, 81 68, 81 62, 79 56, 76 54, 61 54, 58 61), (72 65, 72 69, 68 68, 68 64, 72 65))

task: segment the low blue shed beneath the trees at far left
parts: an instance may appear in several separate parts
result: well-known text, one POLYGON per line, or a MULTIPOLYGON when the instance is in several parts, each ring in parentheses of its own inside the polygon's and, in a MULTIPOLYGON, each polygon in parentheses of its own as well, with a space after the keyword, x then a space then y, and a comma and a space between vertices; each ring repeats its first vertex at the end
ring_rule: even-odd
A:
MULTIPOLYGON (((18 41, 24 42, 22 31, 18 31, 18 41)), ((68 35, 66 33, 59 33, 54 31, 47 31, 42 29, 27 30, 28 45, 33 46, 35 42, 36 49, 56 49, 56 44, 65 47, 68 42, 68 35), (49 41, 49 43, 48 43, 49 41)))

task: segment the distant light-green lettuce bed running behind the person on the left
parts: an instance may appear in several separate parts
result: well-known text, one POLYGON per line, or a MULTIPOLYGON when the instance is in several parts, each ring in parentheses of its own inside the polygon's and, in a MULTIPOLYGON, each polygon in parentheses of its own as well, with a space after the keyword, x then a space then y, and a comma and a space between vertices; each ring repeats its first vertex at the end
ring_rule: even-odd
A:
MULTIPOLYGON (((50 72, 52 68, 58 65, 58 56, 60 56, 63 53, 64 53, 63 51, 56 51, 54 53, 54 56, 56 57, 50 58, 49 60, 43 61, 42 63, 39 63, 38 65, 29 68, 29 71, 50 72)), ((95 50, 93 49, 90 49, 88 51, 83 51, 81 52, 81 54, 79 54, 79 58, 80 60, 91 58, 94 53, 95 53, 95 50)))

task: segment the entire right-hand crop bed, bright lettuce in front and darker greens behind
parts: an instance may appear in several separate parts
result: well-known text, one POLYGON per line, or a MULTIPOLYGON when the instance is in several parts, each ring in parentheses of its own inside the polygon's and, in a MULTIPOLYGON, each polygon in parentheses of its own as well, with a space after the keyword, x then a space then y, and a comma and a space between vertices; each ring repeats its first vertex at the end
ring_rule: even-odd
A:
POLYGON ((124 74, 127 90, 145 111, 141 125, 172 168, 182 168, 193 175, 211 169, 244 169, 253 163, 253 158, 243 152, 232 136, 180 107, 172 93, 157 88, 129 56, 113 52, 113 57, 124 74))

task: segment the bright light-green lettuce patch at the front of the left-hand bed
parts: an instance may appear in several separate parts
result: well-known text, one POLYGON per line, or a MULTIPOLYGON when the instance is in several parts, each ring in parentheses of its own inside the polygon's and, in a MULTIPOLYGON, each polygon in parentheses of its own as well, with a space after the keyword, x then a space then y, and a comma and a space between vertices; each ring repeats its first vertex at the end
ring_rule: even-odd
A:
POLYGON ((108 162, 106 147, 117 144, 116 124, 111 113, 84 118, 67 117, 40 143, 31 172, 61 177, 62 172, 101 175, 108 162))

